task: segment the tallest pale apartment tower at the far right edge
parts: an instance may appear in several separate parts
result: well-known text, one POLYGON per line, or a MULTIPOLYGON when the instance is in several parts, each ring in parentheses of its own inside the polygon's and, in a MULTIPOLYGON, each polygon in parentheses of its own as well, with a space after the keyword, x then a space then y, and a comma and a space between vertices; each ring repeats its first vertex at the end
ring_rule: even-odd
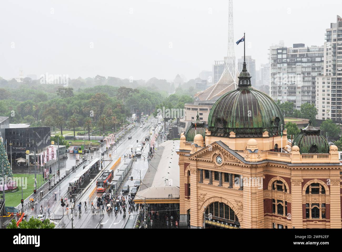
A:
POLYGON ((342 121, 342 18, 326 29, 324 76, 317 78, 317 119, 342 121))

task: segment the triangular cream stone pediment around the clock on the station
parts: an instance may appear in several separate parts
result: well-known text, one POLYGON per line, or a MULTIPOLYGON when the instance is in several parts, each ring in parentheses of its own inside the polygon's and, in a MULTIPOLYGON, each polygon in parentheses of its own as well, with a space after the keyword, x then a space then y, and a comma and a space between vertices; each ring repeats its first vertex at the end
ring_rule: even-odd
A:
MULTIPOLYGON (((226 148, 228 149, 228 146, 226 148)), ((223 163, 242 163, 236 156, 234 156, 234 154, 222 148, 217 142, 214 142, 210 144, 210 146, 206 146, 200 151, 195 152, 194 154, 190 155, 189 158, 214 162, 217 155, 222 156, 223 163)))

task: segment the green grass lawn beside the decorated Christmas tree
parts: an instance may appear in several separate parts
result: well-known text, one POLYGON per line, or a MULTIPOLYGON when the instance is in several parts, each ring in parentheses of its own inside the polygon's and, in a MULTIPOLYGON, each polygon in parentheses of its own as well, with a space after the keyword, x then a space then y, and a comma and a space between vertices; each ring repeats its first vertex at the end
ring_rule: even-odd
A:
MULTIPOLYGON (((5 193, 5 199, 6 199, 6 206, 17 206, 20 204, 20 201, 22 199, 21 196, 21 177, 23 177, 23 199, 25 200, 27 197, 29 197, 34 190, 35 187, 35 175, 34 174, 13 174, 14 178, 17 179, 17 189, 12 192, 6 192, 5 193), (20 183, 18 183, 18 181, 20 183), (19 186, 20 185, 20 186, 19 186), (26 189, 25 189, 26 188, 26 189)), ((42 179, 43 175, 37 174, 37 187, 40 186, 40 181, 42 179)), ((43 181, 43 184, 47 181, 43 181)))

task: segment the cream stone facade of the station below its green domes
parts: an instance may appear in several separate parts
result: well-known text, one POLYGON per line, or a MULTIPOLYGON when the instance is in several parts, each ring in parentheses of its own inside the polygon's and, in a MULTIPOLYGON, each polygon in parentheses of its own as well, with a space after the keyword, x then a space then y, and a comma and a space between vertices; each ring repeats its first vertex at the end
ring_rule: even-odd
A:
POLYGON ((196 139, 196 142, 188 143, 184 136, 181 137, 177 152, 180 158, 181 222, 189 221, 192 228, 202 228, 203 212, 211 203, 219 202, 234 211, 238 222, 217 218, 223 220, 222 224, 217 220, 212 222, 213 217, 206 221, 207 225, 215 223, 215 226, 220 224, 220 227, 231 228, 230 224, 234 227, 238 223, 236 226, 241 228, 273 228, 274 225, 283 228, 341 228, 341 168, 337 147, 331 146, 327 154, 300 154, 297 146, 289 153, 282 153, 260 148, 257 139, 245 139, 246 151, 233 151, 228 147, 231 143, 228 140, 210 141, 207 138, 206 141, 196 139), (218 156, 223 159, 221 164, 216 161, 218 156), (205 177, 206 171, 211 178, 205 177), (215 180, 215 172, 219 174, 218 180, 215 180), (228 181, 225 174, 228 174, 228 181), (311 184, 321 185, 318 194, 306 193, 311 184), (273 204, 276 210, 278 205, 280 209, 285 204, 286 210, 273 213, 273 204), (316 205, 310 204, 319 205, 318 218, 312 217, 311 210, 316 205), (189 220, 186 219, 188 214, 189 220))

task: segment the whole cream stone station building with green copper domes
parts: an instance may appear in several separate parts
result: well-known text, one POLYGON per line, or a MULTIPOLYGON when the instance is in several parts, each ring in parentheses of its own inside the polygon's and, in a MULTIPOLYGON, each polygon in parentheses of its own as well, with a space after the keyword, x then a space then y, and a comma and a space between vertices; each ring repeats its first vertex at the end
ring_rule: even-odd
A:
MULTIPOLYGON (((273 99, 251 86, 212 106, 205 135, 180 138, 180 225, 191 228, 341 228, 341 165, 308 122, 288 145, 273 99)), ((192 125, 193 127, 193 125, 192 125)))

